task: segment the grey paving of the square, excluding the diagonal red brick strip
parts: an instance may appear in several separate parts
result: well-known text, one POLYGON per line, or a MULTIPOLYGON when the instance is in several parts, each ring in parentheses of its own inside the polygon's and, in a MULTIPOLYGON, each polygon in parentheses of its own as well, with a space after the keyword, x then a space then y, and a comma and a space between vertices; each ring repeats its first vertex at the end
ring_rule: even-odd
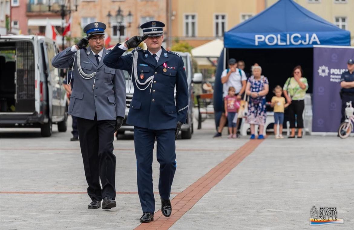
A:
MULTIPOLYGON (((107 211, 86 208, 90 199, 85 194, 79 143, 69 141, 70 130, 43 138, 37 129, 1 129, 1 229, 133 229, 139 225, 132 133, 114 141, 116 190, 121 193, 116 197, 118 207, 107 211), (14 191, 58 194, 4 193, 14 191)), ((227 139, 226 133, 212 139, 214 131, 213 121, 206 120, 191 140, 177 140, 178 166, 171 197, 249 141, 247 137, 227 139)), ((317 228, 353 229, 352 143, 353 138, 274 140, 270 136, 171 229, 312 228, 308 219, 313 205, 336 206, 338 217, 344 219, 342 225, 317 228)), ((156 155, 154 159, 157 192, 156 155)), ((158 211, 157 193, 155 200, 158 211)))

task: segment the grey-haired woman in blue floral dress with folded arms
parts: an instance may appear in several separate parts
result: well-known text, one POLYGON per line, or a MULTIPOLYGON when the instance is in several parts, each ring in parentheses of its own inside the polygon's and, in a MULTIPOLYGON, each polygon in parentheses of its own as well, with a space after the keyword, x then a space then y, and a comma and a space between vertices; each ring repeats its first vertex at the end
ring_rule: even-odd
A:
POLYGON ((255 125, 259 125, 258 139, 264 139, 263 129, 267 118, 265 95, 268 94, 269 83, 268 78, 261 75, 261 66, 253 66, 252 73, 246 85, 246 94, 250 96, 246 122, 251 125, 251 139, 255 139, 255 125))

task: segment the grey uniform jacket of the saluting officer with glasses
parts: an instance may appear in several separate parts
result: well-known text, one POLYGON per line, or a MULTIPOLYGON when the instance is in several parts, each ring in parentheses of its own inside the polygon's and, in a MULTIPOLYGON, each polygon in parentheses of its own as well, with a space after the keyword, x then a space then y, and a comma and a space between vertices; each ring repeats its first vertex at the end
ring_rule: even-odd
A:
MULTIPOLYGON (((76 52, 64 49, 52 59, 56 68, 72 68, 76 52)), ((75 84, 70 96, 68 113, 85 119, 115 120, 117 116, 124 117, 126 106, 125 77, 121 70, 109 68, 103 64, 103 58, 109 50, 103 50, 99 65, 90 47, 81 49, 81 68, 87 73, 96 72, 91 79, 81 77, 77 65, 77 57, 73 67, 75 84), (95 80, 96 79, 96 80, 95 80), (95 87, 93 83, 95 81, 95 87), (93 88, 93 92, 92 92, 93 88)), ((68 81, 70 76, 68 76, 68 81)))

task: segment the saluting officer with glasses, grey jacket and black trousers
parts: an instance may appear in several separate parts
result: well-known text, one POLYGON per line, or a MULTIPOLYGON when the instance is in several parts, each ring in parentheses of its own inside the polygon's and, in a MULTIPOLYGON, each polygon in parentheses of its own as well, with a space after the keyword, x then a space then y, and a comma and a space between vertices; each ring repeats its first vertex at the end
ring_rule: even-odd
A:
POLYGON ((72 68, 75 75, 68 113, 78 117, 89 209, 101 207, 102 199, 102 209, 116 206, 113 134, 122 125, 126 106, 123 72, 103 64, 109 52, 103 47, 105 28, 101 22, 86 25, 87 37, 52 59, 54 67, 72 68))

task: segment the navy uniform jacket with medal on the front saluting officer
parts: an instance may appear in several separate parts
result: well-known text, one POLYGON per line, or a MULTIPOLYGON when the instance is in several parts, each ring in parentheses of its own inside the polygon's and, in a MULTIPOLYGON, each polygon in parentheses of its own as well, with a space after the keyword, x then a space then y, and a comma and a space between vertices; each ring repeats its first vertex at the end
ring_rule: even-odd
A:
MULTIPOLYGON (((139 90, 134 74, 131 76, 135 90, 126 123, 152 130, 176 129, 177 120, 185 123, 188 111, 188 84, 181 56, 161 47, 162 53, 156 65, 150 52, 137 48, 131 54, 122 56, 125 51, 119 48, 119 45, 105 56, 103 60, 105 65, 126 70, 131 74, 133 53, 138 52, 138 80, 145 82, 154 75, 151 93, 150 85, 145 90, 139 90), (166 72, 163 71, 164 63, 167 65, 166 72)), ((139 85, 139 88, 144 89, 146 86, 147 84, 139 85)))

